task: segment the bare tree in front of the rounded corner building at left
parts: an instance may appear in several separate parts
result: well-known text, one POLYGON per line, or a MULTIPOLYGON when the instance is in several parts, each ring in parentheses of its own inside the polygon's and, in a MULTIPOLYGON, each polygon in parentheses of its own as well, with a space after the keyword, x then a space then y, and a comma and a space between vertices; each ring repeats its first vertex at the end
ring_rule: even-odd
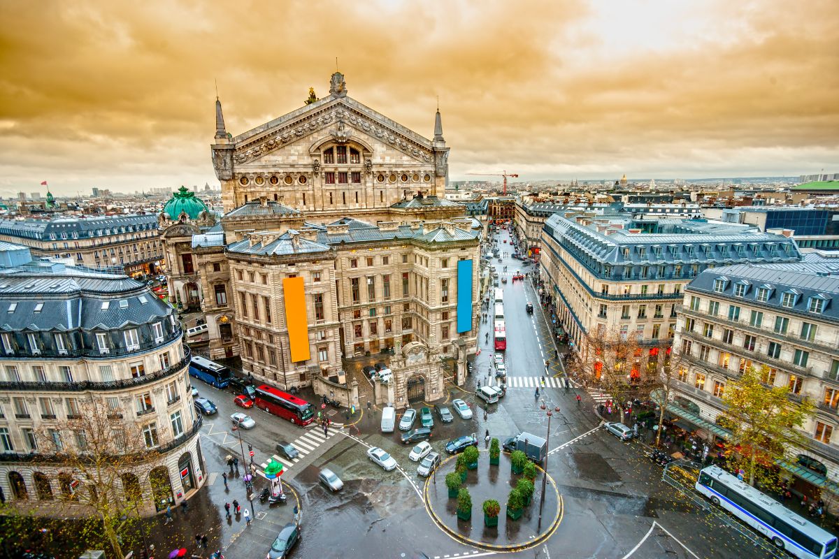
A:
POLYGON ((39 452, 58 472, 57 502, 76 514, 98 517, 114 554, 122 557, 117 534, 139 518, 138 479, 159 458, 149 448, 157 441, 147 441, 153 435, 122 420, 101 400, 91 398, 79 408, 75 416, 38 429, 39 452))

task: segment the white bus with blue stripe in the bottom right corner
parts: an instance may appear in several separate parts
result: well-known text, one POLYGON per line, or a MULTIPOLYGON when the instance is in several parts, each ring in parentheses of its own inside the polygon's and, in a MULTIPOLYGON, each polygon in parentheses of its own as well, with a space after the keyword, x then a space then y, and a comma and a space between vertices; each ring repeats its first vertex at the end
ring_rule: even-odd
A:
POLYGON ((718 466, 699 473, 696 490, 793 556, 830 559, 836 555, 836 536, 718 466))

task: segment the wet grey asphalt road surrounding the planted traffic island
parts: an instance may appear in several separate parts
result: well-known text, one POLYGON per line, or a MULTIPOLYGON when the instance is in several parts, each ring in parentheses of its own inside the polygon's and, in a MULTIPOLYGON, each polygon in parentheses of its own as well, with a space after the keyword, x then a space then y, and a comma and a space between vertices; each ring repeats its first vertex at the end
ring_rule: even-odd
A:
MULTIPOLYGON (((503 234, 508 235, 506 231, 503 234)), ((502 251, 506 248, 512 252, 509 243, 500 246, 502 251)), ((517 269, 524 269, 521 261, 512 258, 505 259, 504 263, 510 275, 517 269)), ((503 263, 499 265, 496 259, 493 265, 499 273, 504 273, 503 263)), ((732 535, 719 527, 716 521, 709 520, 664 484, 660 479, 661 469, 644 458, 638 444, 622 443, 597 428, 599 419, 584 392, 581 392, 583 405, 576 403, 574 389, 540 389, 539 401, 534 399, 534 388, 527 386, 528 379, 538 382, 545 372, 545 359, 553 361, 554 346, 539 310, 538 296, 529 282, 508 280, 506 284, 499 283, 499 288, 503 289, 505 300, 508 375, 511 379, 519 378, 522 387, 508 388, 502 401, 488 406, 486 422, 474 395, 452 387, 447 401, 463 398, 476 412, 472 420, 455 416, 454 422, 449 424, 443 424, 435 417, 430 442, 435 451, 445 454, 443 447, 450 438, 469 433, 477 433, 482 438, 485 429, 499 438, 520 431, 545 436, 547 417, 539 409, 539 403, 545 401, 547 406, 560 407, 560 412, 550 422, 552 452, 548 471, 564 499, 563 520, 545 545, 515 555, 626 559, 761 556, 755 555, 751 544, 742 536, 732 535), (525 311, 528 301, 536 307, 533 315, 525 311)), ((483 341, 483 334, 491 323, 481 324, 479 340, 483 341)), ((489 344, 492 344, 492 334, 489 344)), ((467 382, 466 391, 474 391, 478 375, 482 383, 487 381, 484 375, 487 375, 493 353, 489 344, 481 346, 482 353, 475 360, 475 372, 467 382)), ((202 439, 208 469, 212 471, 211 464, 221 461, 223 454, 233 448, 238 450, 228 417, 233 411, 242 410, 233 406, 231 393, 216 391, 197 380, 194 384, 201 396, 210 397, 219 406, 218 416, 206 422, 202 439)), ((421 403, 414 404, 416 408, 420 406, 421 403)), ((293 441, 305 433, 304 429, 270 417, 263 411, 253 411, 252 415, 258 425, 244 432, 243 439, 246 453, 247 443, 253 444, 258 463, 274 453, 277 440, 293 441)), ((359 415, 362 417, 357 426, 315 446, 305 459, 292 464, 284 476, 299 494, 304 512, 302 540, 291 556, 397 559, 422 552, 434 559, 492 555, 453 541, 432 523, 420 499, 424 480, 415 474, 416 463, 408 458, 411 446, 399 443, 398 429, 388 434, 379 432, 379 411, 364 410, 359 415), (384 472, 367 459, 368 446, 387 450, 400 468, 384 472), (325 466, 344 481, 345 486, 339 493, 332 494, 317 483, 317 474, 325 466)), ((342 418, 337 416, 335 419, 341 421, 342 418)), ((221 474, 221 467, 216 468, 221 474)), ((211 495, 218 494, 224 499, 224 494, 219 493, 223 489, 221 479, 212 475, 210 479, 213 482, 211 495)), ((438 483, 442 483, 442 479, 438 483)), ((474 505, 473 522, 482 520, 480 505, 474 505)), ((256 509, 261 510, 258 505, 256 509)), ((225 534, 224 541, 235 541, 236 556, 262 557, 270 545, 269 534, 289 517, 288 507, 275 508, 255 520, 255 525, 265 523, 259 531, 243 528, 240 523, 220 529, 225 534), (252 531, 248 533, 248 530, 252 531)), ((234 558, 229 554, 228 557, 234 558)))

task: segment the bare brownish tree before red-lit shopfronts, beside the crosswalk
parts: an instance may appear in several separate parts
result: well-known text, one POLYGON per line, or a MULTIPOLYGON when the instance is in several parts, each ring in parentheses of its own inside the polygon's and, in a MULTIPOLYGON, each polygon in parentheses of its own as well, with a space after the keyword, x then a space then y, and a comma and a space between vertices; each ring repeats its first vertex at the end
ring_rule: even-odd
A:
POLYGON ((659 359, 665 344, 650 344, 633 336, 598 330, 586 336, 581 353, 569 368, 612 396, 613 405, 623 411, 628 401, 646 401, 659 386, 659 359))

